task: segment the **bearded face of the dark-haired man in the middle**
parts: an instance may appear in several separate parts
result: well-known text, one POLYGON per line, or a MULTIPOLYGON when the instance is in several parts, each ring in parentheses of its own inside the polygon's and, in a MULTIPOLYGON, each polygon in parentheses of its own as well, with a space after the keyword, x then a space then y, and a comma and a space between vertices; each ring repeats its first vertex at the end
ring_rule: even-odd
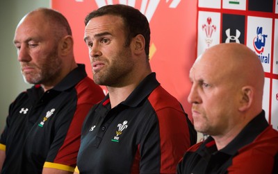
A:
POLYGON ((120 87, 135 64, 131 49, 125 46, 126 33, 121 17, 104 15, 90 19, 85 26, 93 79, 98 85, 120 87))

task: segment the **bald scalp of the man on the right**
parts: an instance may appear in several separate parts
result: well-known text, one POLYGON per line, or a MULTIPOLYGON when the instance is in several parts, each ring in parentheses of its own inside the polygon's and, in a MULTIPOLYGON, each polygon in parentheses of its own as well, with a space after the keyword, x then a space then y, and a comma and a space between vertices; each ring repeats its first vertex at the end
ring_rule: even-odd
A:
POLYGON ((202 65, 204 73, 215 76, 219 82, 231 84, 231 88, 252 87, 252 106, 261 111, 264 71, 258 56, 243 44, 218 44, 204 51, 197 58, 193 69, 202 65), (210 69, 209 72, 206 72, 210 69))

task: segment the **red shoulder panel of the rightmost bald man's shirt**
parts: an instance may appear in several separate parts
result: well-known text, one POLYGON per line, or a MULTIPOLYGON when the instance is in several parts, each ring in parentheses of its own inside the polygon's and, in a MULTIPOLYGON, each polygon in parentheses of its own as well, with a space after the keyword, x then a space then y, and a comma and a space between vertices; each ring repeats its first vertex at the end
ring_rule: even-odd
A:
POLYGON ((277 170, 278 133, 268 126, 252 143, 238 150, 229 171, 238 173, 275 173, 277 170))

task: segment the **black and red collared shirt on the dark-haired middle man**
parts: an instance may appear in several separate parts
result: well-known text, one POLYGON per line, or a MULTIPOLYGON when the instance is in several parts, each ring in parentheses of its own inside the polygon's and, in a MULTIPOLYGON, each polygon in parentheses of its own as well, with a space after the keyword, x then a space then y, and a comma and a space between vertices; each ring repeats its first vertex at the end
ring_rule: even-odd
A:
POLYGON ((77 166, 80 173, 175 173, 195 138, 179 101, 151 73, 113 109, 106 96, 90 110, 77 166))

